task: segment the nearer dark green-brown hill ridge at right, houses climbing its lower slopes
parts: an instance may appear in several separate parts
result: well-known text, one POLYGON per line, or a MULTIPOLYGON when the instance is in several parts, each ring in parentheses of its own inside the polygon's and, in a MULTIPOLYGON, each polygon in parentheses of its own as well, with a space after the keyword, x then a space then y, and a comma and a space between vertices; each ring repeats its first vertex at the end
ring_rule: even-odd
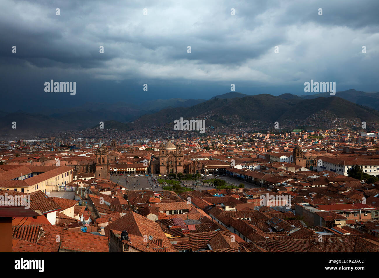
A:
POLYGON ((244 96, 242 98, 211 98, 191 107, 163 109, 157 113, 141 116, 135 123, 157 126, 183 119, 204 119, 213 124, 227 125, 236 119, 249 121, 295 121, 313 114, 330 113, 339 118, 359 118, 362 121, 379 121, 379 112, 360 107, 345 99, 319 97, 312 101, 291 95, 268 94, 244 96))

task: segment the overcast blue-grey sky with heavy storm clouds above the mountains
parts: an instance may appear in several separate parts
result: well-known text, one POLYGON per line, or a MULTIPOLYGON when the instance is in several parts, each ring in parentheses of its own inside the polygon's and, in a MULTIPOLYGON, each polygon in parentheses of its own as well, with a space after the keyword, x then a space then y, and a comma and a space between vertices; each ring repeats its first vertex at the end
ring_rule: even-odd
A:
POLYGON ((378 92, 378 11, 377 0, 1 0, 0 110, 209 99, 232 83, 304 95, 311 79, 378 92), (76 82, 76 95, 46 93, 51 79, 76 82))

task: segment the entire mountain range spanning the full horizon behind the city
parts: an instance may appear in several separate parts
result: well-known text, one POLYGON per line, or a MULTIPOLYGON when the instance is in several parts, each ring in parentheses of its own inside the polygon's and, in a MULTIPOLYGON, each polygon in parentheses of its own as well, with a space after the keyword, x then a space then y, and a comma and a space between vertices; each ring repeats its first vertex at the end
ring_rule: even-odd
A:
MULTIPOLYGON (((120 123, 151 123, 157 126, 176 119, 206 118, 208 124, 228 126, 238 121, 294 121, 313 114, 329 113, 339 118, 359 118, 366 122, 379 121, 379 92, 366 93, 354 89, 312 95, 279 96, 269 94, 246 95, 229 92, 211 99, 158 99, 140 104, 117 102, 113 104, 85 103, 64 110, 45 110, 40 113, 0 111, 0 135, 34 134, 63 130, 81 130, 99 126, 100 121, 120 123), (12 129, 16 121, 17 131, 12 129)), ((207 125, 208 125, 207 124, 207 125)), ((123 130, 128 129, 127 125, 123 130)))

